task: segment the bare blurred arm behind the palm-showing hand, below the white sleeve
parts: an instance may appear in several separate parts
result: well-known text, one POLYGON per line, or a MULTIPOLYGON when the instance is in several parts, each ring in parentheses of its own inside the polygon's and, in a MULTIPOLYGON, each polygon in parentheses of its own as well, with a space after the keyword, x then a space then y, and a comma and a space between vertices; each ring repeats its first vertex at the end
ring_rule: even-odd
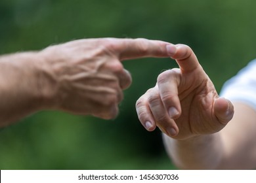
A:
POLYGON ((254 169, 256 167, 256 112, 234 103, 234 117, 224 129, 177 141, 163 135, 165 148, 180 169, 254 169))

